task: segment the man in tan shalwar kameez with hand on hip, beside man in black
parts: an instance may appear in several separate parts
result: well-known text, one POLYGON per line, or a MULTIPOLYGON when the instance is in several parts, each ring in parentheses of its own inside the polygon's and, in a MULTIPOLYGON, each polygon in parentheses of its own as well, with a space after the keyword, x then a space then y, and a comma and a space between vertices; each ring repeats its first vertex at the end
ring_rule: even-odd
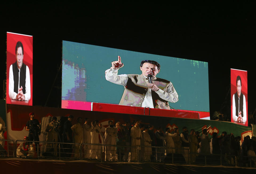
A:
MULTIPOLYGON (((71 127, 71 130, 73 131, 73 143, 83 143, 83 118, 78 117, 77 118, 77 124, 73 125, 71 127)), ((79 145, 74 145, 74 158, 80 158, 80 146, 79 145)))

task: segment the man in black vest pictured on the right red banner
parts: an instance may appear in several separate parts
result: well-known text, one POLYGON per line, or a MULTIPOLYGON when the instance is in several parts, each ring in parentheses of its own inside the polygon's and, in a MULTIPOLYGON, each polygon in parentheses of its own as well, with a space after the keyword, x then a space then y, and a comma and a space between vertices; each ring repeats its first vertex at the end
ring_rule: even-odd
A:
POLYGON ((246 117, 246 101, 245 95, 241 92, 242 89, 242 81, 241 77, 237 76, 237 92, 233 95, 233 108, 232 108, 232 116, 235 122, 245 123, 247 120, 246 117))

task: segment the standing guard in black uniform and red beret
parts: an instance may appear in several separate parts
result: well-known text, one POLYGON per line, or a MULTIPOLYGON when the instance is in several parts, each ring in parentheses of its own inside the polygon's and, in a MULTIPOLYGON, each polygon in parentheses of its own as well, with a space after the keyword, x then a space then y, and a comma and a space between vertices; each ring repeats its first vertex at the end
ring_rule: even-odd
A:
MULTIPOLYGON (((30 120, 27 121, 26 130, 29 131, 28 141, 39 141, 39 135, 41 134, 41 125, 37 119, 34 119, 34 113, 29 113, 30 120)), ((39 151, 39 143, 35 142, 36 151, 39 151)), ((39 155, 39 154, 38 154, 39 155)))

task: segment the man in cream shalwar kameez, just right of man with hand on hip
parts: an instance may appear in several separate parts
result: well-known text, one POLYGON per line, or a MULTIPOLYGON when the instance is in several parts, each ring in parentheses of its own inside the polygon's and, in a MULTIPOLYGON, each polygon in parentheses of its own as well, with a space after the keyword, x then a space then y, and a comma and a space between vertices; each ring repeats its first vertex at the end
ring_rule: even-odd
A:
MULTIPOLYGON (((83 143, 90 143, 91 144, 91 126, 90 126, 90 120, 89 118, 85 118, 85 124, 83 124, 83 143)), ((90 157, 90 149, 91 145, 84 145, 84 154, 83 158, 89 158, 90 157)))

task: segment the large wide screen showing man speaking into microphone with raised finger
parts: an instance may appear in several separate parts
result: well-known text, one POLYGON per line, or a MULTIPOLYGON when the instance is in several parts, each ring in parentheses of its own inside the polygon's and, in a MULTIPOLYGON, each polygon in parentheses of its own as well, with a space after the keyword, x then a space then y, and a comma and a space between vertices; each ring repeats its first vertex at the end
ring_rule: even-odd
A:
POLYGON ((91 102, 160 109, 170 105, 209 116, 207 62, 69 41, 63 41, 62 53, 62 108, 91 110, 91 102), (145 62, 140 67, 143 60, 161 66, 145 62), (110 69, 111 62, 118 72, 110 69), (155 86, 147 86, 146 68, 155 86))

